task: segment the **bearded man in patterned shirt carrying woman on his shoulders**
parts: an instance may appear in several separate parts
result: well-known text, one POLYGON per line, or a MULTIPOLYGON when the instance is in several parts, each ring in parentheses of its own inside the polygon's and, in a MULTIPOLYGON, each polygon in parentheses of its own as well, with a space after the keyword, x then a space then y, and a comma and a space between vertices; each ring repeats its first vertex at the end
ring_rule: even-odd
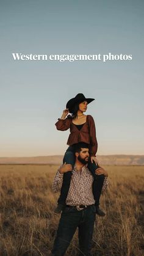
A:
MULTIPOLYGON (((89 256, 91 251, 93 227, 96 216, 95 199, 93 197, 93 176, 87 168, 89 150, 88 145, 79 143, 75 147, 76 163, 74 169, 70 164, 63 164, 57 171, 52 189, 60 191, 63 173, 72 171, 70 189, 63 209, 57 230, 52 255, 65 255, 67 248, 79 228, 79 255, 89 256)), ((107 172, 103 168, 96 169, 96 174, 104 175, 102 191, 107 186, 107 172)))

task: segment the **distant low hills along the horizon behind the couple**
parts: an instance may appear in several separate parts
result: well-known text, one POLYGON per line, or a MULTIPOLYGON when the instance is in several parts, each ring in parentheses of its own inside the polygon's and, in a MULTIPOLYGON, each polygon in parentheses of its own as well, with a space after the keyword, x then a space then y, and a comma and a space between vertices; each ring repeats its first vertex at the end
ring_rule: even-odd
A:
MULTIPOLYGON (((61 164, 63 156, 32 156, 0 158, 0 164, 61 164)), ((97 156, 104 165, 144 165, 144 155, 104 155, 97 156)))

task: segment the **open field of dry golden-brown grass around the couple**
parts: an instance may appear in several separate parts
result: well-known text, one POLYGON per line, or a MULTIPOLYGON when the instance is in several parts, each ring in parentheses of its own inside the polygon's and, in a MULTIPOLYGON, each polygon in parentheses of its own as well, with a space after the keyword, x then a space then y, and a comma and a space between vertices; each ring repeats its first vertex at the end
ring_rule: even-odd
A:
MULTIPOLYGON (((1 256, 48 256, 59 216, 51 191, 58 166, 0 166, 1 256)), ((101 196, 106 217, 96 215, 92 254, 144 255, 144 166, 105 166, 109 188, 101 196)), ((78 255, 77 233, 67 254, 78 255)))

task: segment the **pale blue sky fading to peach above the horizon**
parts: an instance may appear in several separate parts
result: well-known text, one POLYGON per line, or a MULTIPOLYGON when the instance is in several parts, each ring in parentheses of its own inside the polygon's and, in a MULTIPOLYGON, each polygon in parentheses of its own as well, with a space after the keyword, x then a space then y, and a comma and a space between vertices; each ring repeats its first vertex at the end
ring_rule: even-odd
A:
POLYGON ((63 155, 54 125, 77 93, 95 98, 97 155, 143 155, 142 0, 0 1, 0 156, 63 155), (23 54, 132 54, 132 60, 26 61, 23 54))

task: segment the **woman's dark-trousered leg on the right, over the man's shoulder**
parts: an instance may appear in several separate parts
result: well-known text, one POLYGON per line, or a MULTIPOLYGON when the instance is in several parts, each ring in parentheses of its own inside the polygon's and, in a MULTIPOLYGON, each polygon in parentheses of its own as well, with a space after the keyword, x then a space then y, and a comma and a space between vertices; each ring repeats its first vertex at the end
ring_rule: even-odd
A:
POLYGON ((93 196, 94 196, 94 199, 95 199, 96 207, 99 207, 99 199, 100 199, 100 196, 101 196, 101 191, 102 191, 103 183, 104 183, 104 175, 103 174, 97 175, 95 173, 95 170, 98 169, 98 167, 99 166, 98 166, 98 164, 96 165, 95 161, 93 161, 93 163, 91 161, 88 162, 88 169, 90 170, 90 172, 92 173, 92 175, 94 177, 94 180, 93 180, 93 196))

